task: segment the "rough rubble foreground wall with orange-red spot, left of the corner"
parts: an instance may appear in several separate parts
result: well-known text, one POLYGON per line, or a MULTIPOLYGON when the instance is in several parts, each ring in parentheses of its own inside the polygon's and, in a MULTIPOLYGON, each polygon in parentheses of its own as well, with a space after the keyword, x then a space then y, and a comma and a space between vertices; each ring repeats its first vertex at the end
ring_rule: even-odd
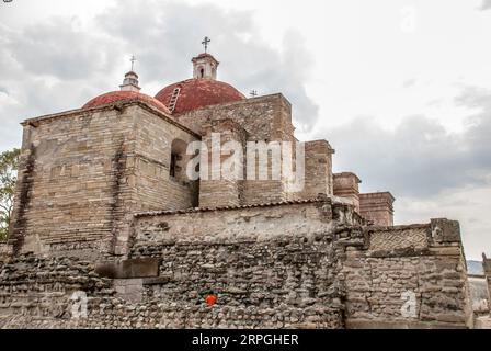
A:
POLYGON ((332 235, 322 229, 333 215, 329 203, 250 208, 249 219, 240 211, 225 217, 252 225, 295 214, 299 223, 292 229, 262 236, 251 233, 252 226, 237 236, 205 235, 179 215, 140 217, 132 258, 99 269, 71 258, 16 258, 0 267, 5 276, 0 283, 0 327, 342 328, 336 252, 332 235), (306 217, 320 231, 298 230, 306 217), (159 262, 158 271, 141 269, 145 260, 159 262), (204 299, 209 291, 218 295, 213 308, 204 299), (72 296, 80 292, 87 293, 88 315, 77 319, 72 296))

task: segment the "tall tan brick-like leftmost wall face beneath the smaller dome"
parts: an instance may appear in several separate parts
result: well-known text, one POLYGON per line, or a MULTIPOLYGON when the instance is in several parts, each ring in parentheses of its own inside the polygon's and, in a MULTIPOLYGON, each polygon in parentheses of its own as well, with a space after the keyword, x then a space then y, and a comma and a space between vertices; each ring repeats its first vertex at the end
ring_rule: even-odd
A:
POLYGON ((116 110, 24 123, 11 235, 16 249, 62 251, 77 241, 87 254, 103 250, 118 207, 130 197, 119 178, 126 176, 132 127, 116 110))

